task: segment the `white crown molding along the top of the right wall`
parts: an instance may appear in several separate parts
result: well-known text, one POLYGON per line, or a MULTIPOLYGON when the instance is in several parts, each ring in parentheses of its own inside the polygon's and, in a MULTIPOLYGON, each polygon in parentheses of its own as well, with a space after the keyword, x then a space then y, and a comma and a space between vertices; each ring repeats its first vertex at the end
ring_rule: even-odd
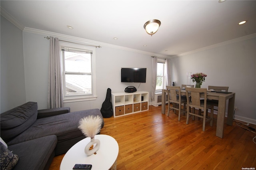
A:
POLYGON ((209 45, 207 47, 202 47, 202 48, 199 48, 199 49, 195 49, 195 50, 192 50, 192 51, 188 51, 186 53, 181 53, 181 54, 178 54, 177 56, 180 57, 180 56, 196 53, 196 52, 199 52, 199 51, 204 51, 204 50, 207 50, 207 49, 212 49, 212 48, 220 47, 220 46, 223 46, 223 45, 248 40, 248 39, 255 38, 255 37, 256 37, 256 33, 250 34, 248 36, 240 37, 240 38, 235 38, 233 40, 229 40, 229 41, 226 41, 226 42, 221 42, 221 43, 217 43, 217 44, 214 44, 214 45, 209 45))

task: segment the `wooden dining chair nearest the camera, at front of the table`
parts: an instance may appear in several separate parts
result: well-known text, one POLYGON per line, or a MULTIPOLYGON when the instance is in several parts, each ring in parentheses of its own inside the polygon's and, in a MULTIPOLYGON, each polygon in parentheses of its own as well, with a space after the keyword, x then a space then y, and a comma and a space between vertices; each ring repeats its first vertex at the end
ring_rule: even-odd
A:
POLYGON ((205 130, 206 121, 210 121, 210 126, 212 127, 213 123, 213 105, 207 103, 207 89, 206 88, 191 88, 186 87, 186 97, 187 97, 187 121, 188 124, 190 115, 203 118, 203 131, 205 130), (203 94, 203 97, 200 97, 200 94, 203 94), (191 99, 190 99, 191 97, 191 99), (202 100, 203 99, 203 100, 202 100), (192 111, 190 111, 190 107, 193 107, 192 111), (198 114, 195 113, 195 108, 198 109, 198 114), (211 109, 210 118, 206 117, 206 111, 211 109), (201 115, 200 110, 203 110, 203 115, 201 115))

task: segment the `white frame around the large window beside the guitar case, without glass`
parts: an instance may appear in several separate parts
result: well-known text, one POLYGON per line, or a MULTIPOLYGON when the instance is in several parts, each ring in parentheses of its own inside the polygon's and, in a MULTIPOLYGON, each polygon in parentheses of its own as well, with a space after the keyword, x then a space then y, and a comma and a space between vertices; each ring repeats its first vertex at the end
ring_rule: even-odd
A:
POLYGON ((69 43, 69 42, 60 42, 60 56, 61 56, 61 67, 62 67, 62 88, 63 88, 63 103, 68 102, 76 102, 76 101, 88 101, 88 100, 96 100, 97 94, 96 94, 96 49, 93 47, 87 47, 85 45, 80 45, 76 43, 69 43), (83 73, 77 73, 77 72, 65 72, 65 56, 63 55, 62 48, 72 48, 72 49, 78 49, 79 50, 85 50, 85 51, 92 51, 91 54, 91 87, 92 87, 92 94, 91 95, 66 95, 66 81, 65 81, 65 75, 66 73, 74 73, 76 75, 83 75, 83 73))

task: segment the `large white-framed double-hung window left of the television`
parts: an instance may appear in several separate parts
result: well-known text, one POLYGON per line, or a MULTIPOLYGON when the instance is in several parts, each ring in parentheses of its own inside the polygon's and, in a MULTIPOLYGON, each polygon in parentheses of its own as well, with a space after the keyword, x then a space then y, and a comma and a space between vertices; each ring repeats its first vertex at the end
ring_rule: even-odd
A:
POLYGON ((96 99, 95 49, 60 43, 64 102, 96 99))

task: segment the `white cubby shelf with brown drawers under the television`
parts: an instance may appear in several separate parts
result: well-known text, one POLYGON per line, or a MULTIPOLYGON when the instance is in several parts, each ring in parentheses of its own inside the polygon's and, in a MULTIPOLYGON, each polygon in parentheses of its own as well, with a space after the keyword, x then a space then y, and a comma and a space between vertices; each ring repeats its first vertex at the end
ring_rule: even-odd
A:
POLYGON ((111 93, 114 117, 148 111, 148 92, 111 93))

